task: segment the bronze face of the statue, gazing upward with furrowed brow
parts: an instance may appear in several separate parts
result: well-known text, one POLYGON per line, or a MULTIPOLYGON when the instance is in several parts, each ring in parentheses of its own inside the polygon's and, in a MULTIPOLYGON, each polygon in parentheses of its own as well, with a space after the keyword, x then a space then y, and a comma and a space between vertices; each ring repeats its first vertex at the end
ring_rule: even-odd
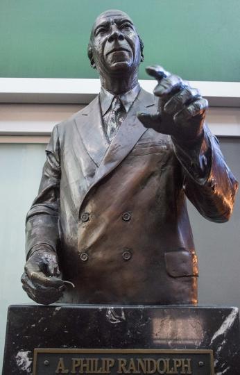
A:
POLYGON ((139 37, 126 13, 102 13, 94 23, 91 38, 94 63, 102 76, 129 72, 139 66, 139 37))

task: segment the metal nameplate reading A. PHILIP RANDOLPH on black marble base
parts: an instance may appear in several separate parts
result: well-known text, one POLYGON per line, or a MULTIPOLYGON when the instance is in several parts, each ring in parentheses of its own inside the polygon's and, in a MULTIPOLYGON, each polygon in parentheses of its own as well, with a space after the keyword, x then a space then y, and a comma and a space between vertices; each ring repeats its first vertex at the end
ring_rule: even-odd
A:
POLYGON ((33 375, 214 375, 208 349, 34 349, 33 375))

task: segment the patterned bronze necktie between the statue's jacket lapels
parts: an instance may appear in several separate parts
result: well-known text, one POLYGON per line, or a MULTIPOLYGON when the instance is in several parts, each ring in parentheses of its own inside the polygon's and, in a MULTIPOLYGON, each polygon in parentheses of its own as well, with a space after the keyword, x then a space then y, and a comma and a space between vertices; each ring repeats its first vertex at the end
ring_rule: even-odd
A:
POLYGON ((121 100, 119 97, 114 97, 108 119, 106 119, 106 133, 110 142, 115 133, 117 133, 117 130, 125 117, 126 110, 123 107, 121 100))

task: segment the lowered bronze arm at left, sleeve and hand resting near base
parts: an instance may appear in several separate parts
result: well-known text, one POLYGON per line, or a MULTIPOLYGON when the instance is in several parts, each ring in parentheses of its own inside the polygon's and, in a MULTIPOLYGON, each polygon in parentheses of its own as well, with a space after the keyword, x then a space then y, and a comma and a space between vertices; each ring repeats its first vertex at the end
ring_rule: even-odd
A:
POLYGON ((22 275, 28 297, 43 304, 58 301, 65 289, 57 255, 60 177, 60 147, 55 126, 46 147, 39 192, 26 217, 26 265, 22 275))

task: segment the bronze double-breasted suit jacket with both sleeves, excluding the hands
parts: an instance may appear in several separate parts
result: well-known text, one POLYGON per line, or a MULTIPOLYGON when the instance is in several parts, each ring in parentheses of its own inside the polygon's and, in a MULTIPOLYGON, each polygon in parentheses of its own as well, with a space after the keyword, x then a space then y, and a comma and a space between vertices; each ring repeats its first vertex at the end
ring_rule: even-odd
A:
POLYGON ((237 182, 216 138, 180 147, 146 129, 156 111, 140 90, 109 144, 92 103, 53 129, 39 194, 26 219, 26 251, 58 252, 73 303, 196 303, 198 267, 186 196, 214 222, 228 220, 237 182))

